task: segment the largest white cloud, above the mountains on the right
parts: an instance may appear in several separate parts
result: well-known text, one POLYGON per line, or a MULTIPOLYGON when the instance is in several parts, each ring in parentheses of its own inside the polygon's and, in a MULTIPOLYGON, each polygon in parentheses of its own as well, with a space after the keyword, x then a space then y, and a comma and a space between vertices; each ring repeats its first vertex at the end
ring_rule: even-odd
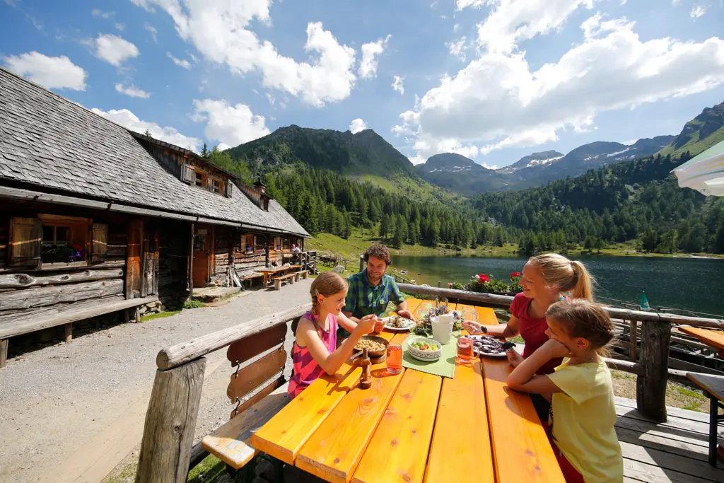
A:
MULTIPOLYGON (((498 18, 497 12, 484 23, 498 18)), ((542 25, 536 28, 539 33, 548 30, 542 25)), ((474 151, 473 143, 482 146, 479 154, 487 154, 556 140, 560 130, 590 130, 600 112, 724 84, 723 39, 642 41, 633 28, 626 19, 603 21, 594 15, 581 24, 581 43, 538 70, 531 70, 526 53, 515 45, 483 49, 457 74, 443 77, 413 109, 400 114, 393 132, 405 135, 422 157, 444 152, 442 148, 450 151, 450 146, 474 151)), ((507 38, 525 37, 516 35, 503 33, 507 38)))

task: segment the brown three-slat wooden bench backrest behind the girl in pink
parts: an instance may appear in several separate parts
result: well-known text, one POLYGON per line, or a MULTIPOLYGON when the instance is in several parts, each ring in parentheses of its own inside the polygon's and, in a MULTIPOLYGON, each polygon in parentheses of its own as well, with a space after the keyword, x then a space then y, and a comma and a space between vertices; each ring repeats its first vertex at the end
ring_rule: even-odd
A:
POLYGON ((227 358, 234 372, 227 396, 236 405, 231 419, 285 383, 286 335, 287 324, 281 323, 229 346, 227 358))

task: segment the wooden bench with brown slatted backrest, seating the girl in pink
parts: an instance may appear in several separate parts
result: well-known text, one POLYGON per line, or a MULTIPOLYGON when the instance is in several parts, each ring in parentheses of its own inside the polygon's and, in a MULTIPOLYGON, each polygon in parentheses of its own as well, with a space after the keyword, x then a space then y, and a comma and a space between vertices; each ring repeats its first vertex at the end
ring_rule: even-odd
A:
MULTIPOLYGON (((227 358, 235 366, 227 396, 236 407, 231 420, 201 440, 203 449, 226 463, 235 474, 258 453, 251 435, 289 402, 284 368, 287 325, 279 324, 229 346, 227 358)), ((281 471, 281 468, 275 468, 281 471)))

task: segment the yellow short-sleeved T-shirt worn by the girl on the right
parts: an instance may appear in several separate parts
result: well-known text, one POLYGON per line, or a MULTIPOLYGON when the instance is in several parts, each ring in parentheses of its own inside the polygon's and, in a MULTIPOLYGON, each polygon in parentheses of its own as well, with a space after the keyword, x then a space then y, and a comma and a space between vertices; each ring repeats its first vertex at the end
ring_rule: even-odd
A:
POLYGON ((552 401, 555 444, 585 482, 623 481, 623 458, 613 425, 616 408, 611 373, 605 362, 571 366, 548 374, 563 392, 552 401))

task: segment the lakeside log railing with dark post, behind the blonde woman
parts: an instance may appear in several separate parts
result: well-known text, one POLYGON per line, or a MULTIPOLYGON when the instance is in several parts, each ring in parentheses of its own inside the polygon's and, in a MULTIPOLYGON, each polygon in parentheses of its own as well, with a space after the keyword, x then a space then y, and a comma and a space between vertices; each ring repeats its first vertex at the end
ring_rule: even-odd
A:
MULTIPOLYGON (((422 285, 400 284, 405 293, 431 295, 447 298, 448 301, 468 303, 475 306, 505 308, 510 307, 513 297, 493 293, 468 292, 422 285)), ((681 316, 677 314, 659 314, 656 312, 635 311, 628 308, 604 307, 612 319, 630 321, 635 327, 641 322, 641 350, 639 361, 607 360, 616 369, 636 374, 636 406, 641 414, 656 421, 666 421, 666 382, 668 379, 683 381, 686 371, 669 369, 669 343, 671 327, 690 325, 710 329, 724 329, 724 320, 702 317, 681 316)), ((635 331, 633 333, 636 333, 635 331)), ((633 340, 635 347, 636 340, 633 340)))

